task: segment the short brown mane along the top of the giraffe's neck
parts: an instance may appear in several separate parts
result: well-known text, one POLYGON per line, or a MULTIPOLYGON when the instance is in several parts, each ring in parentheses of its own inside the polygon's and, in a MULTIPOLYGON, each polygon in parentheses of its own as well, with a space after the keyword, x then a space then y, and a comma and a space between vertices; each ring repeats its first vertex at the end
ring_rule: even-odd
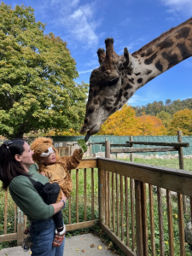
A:
POLYGON ((154 38, 154 40, 152 40, 151 42, 149 42, 148 44, 145 44, 141 49, 138 49, 137 51, 133 52, 132 55, 138 55, 139 53, 143 52, 144 50, 148 49, 150 46, 153 46, 154 44, 158 43, 161 39, 166 38, 171 32, 176 31, 179 27, 186 25, 188 23, 192 22, 192 18, 190 18, 189 20, 184 21, 183 23, 181 23, 178 26, 174 26, 172 27, 170 30, 163 32, 160 37, 158 38, 154 38))

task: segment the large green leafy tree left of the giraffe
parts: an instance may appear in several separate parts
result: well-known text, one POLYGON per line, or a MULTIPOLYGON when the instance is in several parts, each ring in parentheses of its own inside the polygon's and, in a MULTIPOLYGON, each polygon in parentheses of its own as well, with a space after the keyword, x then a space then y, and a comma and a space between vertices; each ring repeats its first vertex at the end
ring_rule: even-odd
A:
POLYGON ((78 130, 88 85, 74 83, 79 74, 67 43, 44 35, 31 7, 1 3, 0 12, 0 134, 78 130))

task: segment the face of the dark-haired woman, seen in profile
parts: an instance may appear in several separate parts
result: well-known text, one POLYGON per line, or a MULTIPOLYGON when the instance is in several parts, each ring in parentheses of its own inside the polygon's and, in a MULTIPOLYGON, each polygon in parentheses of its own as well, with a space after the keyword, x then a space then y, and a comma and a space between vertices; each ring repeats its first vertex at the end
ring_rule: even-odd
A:
POLYGON ((23 145, 24 151, 22 154, 19 155, 18 161, 20 161, 21 166, 24 166, 24 168, 28 168, 29 166, 31 166, 34 162, 32 160, 32 150, 30 148, 30 146, 25 142, 23 145))

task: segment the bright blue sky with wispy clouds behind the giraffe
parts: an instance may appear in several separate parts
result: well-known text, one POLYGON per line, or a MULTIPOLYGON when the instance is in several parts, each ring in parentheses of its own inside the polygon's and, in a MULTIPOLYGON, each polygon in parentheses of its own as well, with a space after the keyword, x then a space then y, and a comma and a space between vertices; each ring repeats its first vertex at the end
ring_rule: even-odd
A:
MULTIPOLYGON (((99 67, 96 51, 105 49, 106 38, 114 39, 114 50, 132 53, 173 26, 192 17, 192 0, 8 0, 13 8, 31 6, 36 21, 46 23, 45 33, 53 32, 67 42, 77 63, 77 83, 89 84, 91 71, 99 67)), ((192 58, 153 79, 129 100, 142 106, 166 99, 192 97, 192 58)))

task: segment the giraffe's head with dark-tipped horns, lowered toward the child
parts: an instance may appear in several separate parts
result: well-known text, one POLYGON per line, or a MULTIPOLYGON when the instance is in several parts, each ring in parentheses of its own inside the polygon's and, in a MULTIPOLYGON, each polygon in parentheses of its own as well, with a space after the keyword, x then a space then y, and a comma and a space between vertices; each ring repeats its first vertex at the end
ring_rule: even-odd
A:
POLYGON ((107 38, 105 44, 106 52, 104 49, 97 51, 100 67, 90 74, 89 97, 81 134, 96 134, 104 121, 133 94, 132 86, 126 81, 127 75, 133 72, 134 58, 126 48, 124 55, 117 55, 113 49, 113 38, 107 38))

